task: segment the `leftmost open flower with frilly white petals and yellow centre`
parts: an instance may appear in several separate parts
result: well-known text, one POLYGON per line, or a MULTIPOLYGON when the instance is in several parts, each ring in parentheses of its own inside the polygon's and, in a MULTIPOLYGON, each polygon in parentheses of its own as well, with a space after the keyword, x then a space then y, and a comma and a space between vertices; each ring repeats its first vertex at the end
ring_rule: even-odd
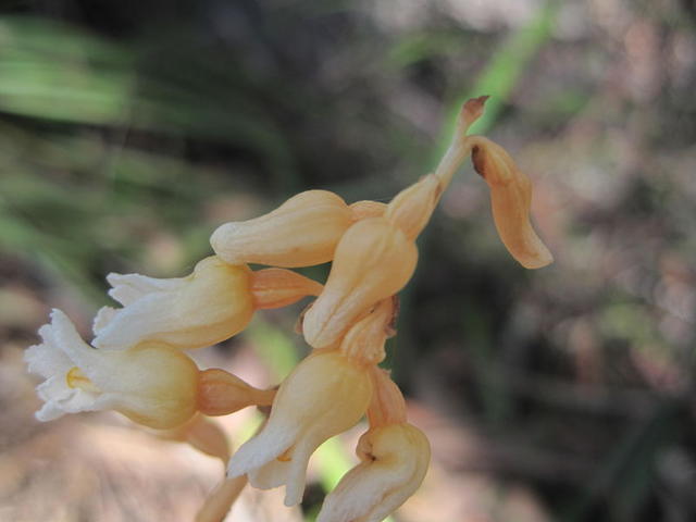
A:
POLYGON ((113 409, 146 426, 169 428, 196 411, 198 369, 177 350, 153 344, 95 350, 60 310, 39 335, 44 341, 26 350, 25 361, 46 380, 37 387, 45 401, 36 413, 40 421, 113 409))

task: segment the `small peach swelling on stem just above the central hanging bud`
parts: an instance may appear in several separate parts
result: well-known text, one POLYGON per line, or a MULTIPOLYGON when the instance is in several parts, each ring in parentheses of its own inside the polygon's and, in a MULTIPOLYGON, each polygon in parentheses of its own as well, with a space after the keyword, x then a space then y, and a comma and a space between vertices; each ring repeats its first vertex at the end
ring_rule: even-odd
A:
POLYGON ((428 174, 397 194, 387 206, 384 216, 398 226, 406 237, 415 239, 430 221, 442 191, 439 179, 428 174))

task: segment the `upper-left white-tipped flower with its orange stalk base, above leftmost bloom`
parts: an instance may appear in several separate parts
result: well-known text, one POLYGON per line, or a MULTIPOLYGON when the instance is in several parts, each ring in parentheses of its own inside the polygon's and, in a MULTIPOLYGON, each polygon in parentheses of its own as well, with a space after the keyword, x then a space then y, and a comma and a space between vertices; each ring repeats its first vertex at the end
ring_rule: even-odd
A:
POLYGON ((109 295, 123 308, 99 311, 94 345, 111 350, 144 340, 176 348, 214 345, 244 330, 256 309, 285 306, 322 288, 295 272, 252 272, 215 256, 187 277, 109 274, 107 281, 113 287, 109 295))

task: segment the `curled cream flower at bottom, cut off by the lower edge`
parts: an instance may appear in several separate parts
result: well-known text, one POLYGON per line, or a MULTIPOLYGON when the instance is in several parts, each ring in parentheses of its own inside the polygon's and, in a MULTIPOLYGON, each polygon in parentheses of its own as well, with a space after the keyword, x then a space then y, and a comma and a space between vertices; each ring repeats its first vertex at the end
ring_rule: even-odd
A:
POLYGON ((406 423, 371 428, 357 452, 361 462, 326 496, 316 522, 380 522, 415 493, 431 459, 425 435, 406 423))

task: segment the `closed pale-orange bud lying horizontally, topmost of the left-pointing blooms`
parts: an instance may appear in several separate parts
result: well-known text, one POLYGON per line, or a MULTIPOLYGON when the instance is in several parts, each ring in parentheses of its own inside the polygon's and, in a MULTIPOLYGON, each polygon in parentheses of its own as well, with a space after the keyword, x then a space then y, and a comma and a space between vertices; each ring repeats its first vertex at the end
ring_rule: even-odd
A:
POLYGON ((219 226, 210 244, 232 264, 310 266, 332 260, 350 223, 343 199, 326 190, 308 190, 265 215, 219 226))

